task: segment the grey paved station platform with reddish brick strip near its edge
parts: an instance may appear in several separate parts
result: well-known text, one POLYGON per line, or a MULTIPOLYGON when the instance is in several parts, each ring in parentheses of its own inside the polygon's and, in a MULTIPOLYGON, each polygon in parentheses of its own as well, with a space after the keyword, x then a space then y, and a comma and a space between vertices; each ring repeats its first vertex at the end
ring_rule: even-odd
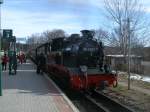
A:
POLYGON ((78 112, 67 97, 32 63, 20 64, 17 75, 2 72, 0 112, 78 112))

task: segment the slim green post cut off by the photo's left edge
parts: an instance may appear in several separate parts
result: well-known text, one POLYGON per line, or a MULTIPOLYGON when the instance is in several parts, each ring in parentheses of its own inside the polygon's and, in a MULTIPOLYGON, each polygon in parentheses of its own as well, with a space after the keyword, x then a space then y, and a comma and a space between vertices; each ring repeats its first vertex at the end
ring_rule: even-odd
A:
POLYGON ((0 96, 2 96, 2 67, 1 67, 1 44, 2 44, 2 30, 1 30, 1 4, 3 0, 0 0, 0 96))

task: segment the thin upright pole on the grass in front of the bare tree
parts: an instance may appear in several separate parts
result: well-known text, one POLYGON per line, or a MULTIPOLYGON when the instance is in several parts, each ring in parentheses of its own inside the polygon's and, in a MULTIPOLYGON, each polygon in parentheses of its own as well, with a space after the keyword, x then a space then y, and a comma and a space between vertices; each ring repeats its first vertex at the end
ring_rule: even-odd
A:
POLYGON ((130 60, 130 57, 131 57, 131 31, 130 31, 130 19, 128 18, 127 19, 127 32, 128 32, 128 90, 130 90, 130 77, 131 77, 131 74, 130 74, 130 63, 131 63, 131 60, 130 60))

